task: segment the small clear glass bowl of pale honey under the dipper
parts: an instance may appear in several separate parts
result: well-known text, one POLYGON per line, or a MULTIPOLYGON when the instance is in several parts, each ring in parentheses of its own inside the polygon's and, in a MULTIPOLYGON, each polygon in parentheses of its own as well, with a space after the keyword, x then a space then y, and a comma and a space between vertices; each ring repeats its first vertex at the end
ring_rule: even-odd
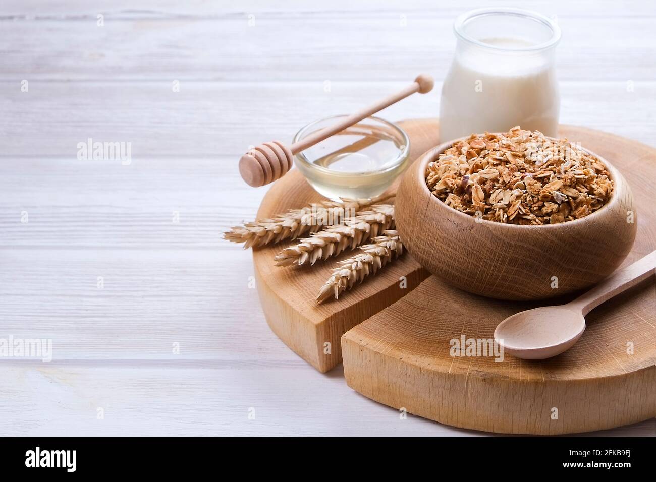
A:
MULTIPOLYGON (((314 121, 300 129, 293 142, 344 117, 314 121)), ((382 194, 408 167, 409 152, 410 140, 403 129, 379 117, 367 117, 295 157, 298 171, 314 190, 340 201, 382 194)))

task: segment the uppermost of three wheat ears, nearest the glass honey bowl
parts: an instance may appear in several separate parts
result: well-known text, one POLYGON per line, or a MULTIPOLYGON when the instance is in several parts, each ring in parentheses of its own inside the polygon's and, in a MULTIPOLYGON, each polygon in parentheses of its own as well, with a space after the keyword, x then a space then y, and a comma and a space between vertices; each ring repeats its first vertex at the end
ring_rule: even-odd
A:
POLYGON ((319 231, 327 224, 338 224, 348 214, 358 214, 364 207, 380 203, 392 196, 394 194, 371 199, 344 199, 343 203, 323 201, 302 209, 291 209, 284 214, 277 214, 273 219, 258 219, 243 226, 235 226, 223 234, 223 239, 244 243, 244 249, 279 243, 285 239, 297 239, 305 233, 319 231))

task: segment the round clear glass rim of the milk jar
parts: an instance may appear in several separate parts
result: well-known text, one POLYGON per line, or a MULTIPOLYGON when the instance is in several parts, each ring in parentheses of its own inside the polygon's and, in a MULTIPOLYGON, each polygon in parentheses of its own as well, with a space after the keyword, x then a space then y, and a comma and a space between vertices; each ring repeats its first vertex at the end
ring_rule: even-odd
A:
POLYGON ((546 15, 543 15, 539 12, 534 12, 533 10, 525 10, 525 9, 514 9, 514 8, 486 8, 486 9, 476 9, 476 10, 469 10, 468 12, 464 12, 463 14, 459 15, 453 24, 453 31, 455 32, 455 35, 458 39, 462 39, 468 43, 472 43, 474 45, 477 45, 478 47, 483 47, 484 49, 490 49, 490 50, 496 50, 498 52, 507 52, 507 53, 512 53, 512 52, 537 52, 539 50, 545 50, 545 49, 550 49, 551 47, 554 47, 559 41, 560 41, 560 27, 556 22, 552 19, 549 18, 546 15), (468 20, 472 20, 472 18, 480 17, 480 16, 488 16, 488 15, 495 15, 495 14, 504 14, 508 16, 517 16, 517 17, 523 17, 523 18, 531 18, 531 20, 537 20, 537 22, 540 22, 544 26, 548 27, 551 32, 551 38, 548 39, 548 41, 539 43, 537 45, 532 45, 531 47, 499 47, 497 45, 489 45, 485 42, 479 41, 477 39, 474 39, 467 35, 464 32, 464 25, 468 20))

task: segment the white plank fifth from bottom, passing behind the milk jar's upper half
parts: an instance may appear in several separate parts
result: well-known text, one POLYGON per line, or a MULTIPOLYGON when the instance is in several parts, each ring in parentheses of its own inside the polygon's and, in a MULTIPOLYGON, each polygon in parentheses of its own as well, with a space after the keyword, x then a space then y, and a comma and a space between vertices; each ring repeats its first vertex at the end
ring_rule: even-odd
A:
MULTIPOLYGON (((560 78, 653 80, 645 60, 656 57, 654 9, 585 21, 560 16, 560 78)), ((114 20, 108 12, 102 27, 94 14, 64 22, 9 16, 0 20, 0 79, 400 80, 421 71, 442 79, 455 46, 453 18, 402 7, 283 18, 262 12, 253 26, 247 14, 114 20)))

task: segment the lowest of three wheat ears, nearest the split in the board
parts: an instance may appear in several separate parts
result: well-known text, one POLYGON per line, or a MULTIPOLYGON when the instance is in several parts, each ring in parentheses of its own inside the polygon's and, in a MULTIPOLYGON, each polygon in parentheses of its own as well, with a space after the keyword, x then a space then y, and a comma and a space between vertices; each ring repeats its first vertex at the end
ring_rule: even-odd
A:
POLYGON ((392 260, 392 256, 397 258, 403 253, 403 243, 396 231, 384 231, 382 236, 374 237, 371 241, 373 244, 360 247, 360 254, 338 263, 340 266, 333 270, 333 275, 319 290, 318 303, 323 303, 331 295, 337 300, 341 292, 351 289, 356 282, 361 283, 365 277, 375 275, 376 271, 392 260))

